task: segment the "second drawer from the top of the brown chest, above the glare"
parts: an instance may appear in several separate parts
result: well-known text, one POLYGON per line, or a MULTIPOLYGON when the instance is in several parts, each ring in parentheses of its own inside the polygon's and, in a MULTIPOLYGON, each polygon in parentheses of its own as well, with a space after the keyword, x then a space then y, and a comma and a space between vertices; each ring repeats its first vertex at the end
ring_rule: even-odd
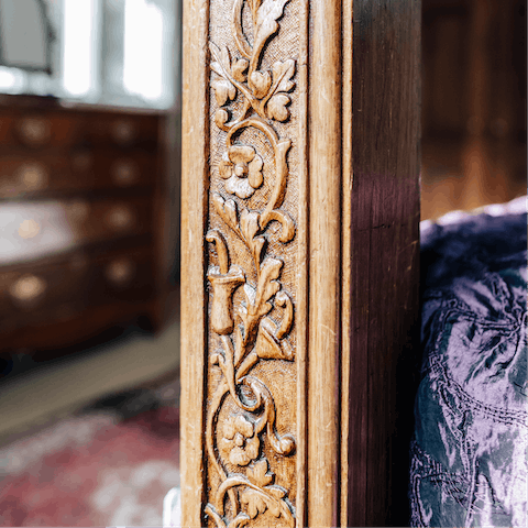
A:
POLYGON ((62 191, 152 187, 155 154, 76 148, 0 155, 0 198, 62 191))

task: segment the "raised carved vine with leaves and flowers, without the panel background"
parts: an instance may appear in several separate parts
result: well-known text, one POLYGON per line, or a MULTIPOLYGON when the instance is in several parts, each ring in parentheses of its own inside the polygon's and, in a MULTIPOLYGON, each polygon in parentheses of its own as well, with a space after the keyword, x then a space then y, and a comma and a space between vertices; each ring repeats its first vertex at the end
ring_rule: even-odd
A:
POLYGON ((227 133, 226 151, 218 169, 227 195, 238 198, 235 201, 213 193, 211 205, 227 228, 227 234, 212 229, 206 237, 215 245, 218 260, 218 265, 209 268, 208 279, 212 290, 210 327, 221 343, 211 354, 210 363, 220 369, 222 375, 210 402, 206 429, 207 454, 220 477, 220 485, 209 492, 205 512, 217 528, 246 526, 265 512, 280 518, 286 526, 295 526, 295 507, 288 499, 288 491, 274 484, 275 474, 263 449, 267 442, 277 455, 293 455, 295 438, 277 433, 275 399, 270 388, 252 375, 252 370, 262 360, 294 361, 295 358, 288 338, 294 323, 294 305, 280 284, 284 262, 270 254, 266 231, 272 222, 278 222, 282 244, 295 238, 293 219, 279 209, 288 183, 287 154, 292 141, 280 139, 273 122, 289 119, 292 100, 288 94, 295 88, 292 79, 296 63, 277 61, 270 70, 260 69, 266 44, 276 36, 277 21, 288 1, 234 0, 235 52, 209 43, 211 86, 220 107, 215 122, 227 133), (244 9, 250 10, 251 29, 244 28, 244 9), (229 107, 239 97, 242 101, 240 113, 231 116, 229 107), (273 188, 270 199, 258 211, 250 210, 245 200, 266 186, 264 161, 255 146, 241 143, 241 132, 246 129, 264 134, 274 157, 273 188), (230 252, 229 240, 233 237, 240 239, 251 255, 240 265, 230 260, 233 252, 230 252), (248 262, 253 266, 251 273, 248 262), (253 272, 254 284, 248 278, 253 272), (244 301, 234 306, 233 296, 239 288, 244 301), (219 424, 219 414, 228 396, 237 410, 219 424), (237 468, 235 472, 228 471, 228 462, 237 468))

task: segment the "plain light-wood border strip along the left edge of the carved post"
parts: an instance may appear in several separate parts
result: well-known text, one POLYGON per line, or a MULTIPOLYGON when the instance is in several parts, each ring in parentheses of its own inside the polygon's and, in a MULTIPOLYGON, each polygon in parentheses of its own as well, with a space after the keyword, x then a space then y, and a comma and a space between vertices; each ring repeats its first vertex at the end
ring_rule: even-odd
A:
POLYGON ((205 498, 205 227, 208 189, 207 38, 209 1, 184 6, 182 116, 182 526, 200 527, 205 498), (196 87, 204 90, 201 97, 196 87), (202 155, 197 153, 202 152, 202 155), (198 300, 197 300, 198 299, 198 300), (201 300, 200 300, 201 299, 201 300), (204 302, 200 307, 197 306, 204 302), (198 309, 197 309, 198 308, 198 309))

